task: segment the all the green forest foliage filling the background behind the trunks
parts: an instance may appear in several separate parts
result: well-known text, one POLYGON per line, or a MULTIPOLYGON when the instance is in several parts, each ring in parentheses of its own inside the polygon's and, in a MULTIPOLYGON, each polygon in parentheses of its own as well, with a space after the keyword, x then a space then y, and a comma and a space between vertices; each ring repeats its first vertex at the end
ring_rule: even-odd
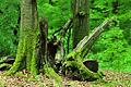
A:
MULTIPOLYGON (((130 0, 90 0, 91 29, 110 16, 116 16, 118 24, 109 27, 109 30, 100 35, 100 38, 93 46, 91 53, 83 60, 98 59, 100 67, 104 70, 131 71, 130 2, 130 0)), ((46 16, 48 18, 49 38, 51 38, 55 30, 59 29, 72 16, 70 5, 70 0, 52 0, 51 4, 49 4, 48 0, 38 0, 38 16, 46 16)), ((1 0, 0 57, 15 55, 20 35, 19 30, 20 2, 17 0, 1 0)), ((67 42, 64 47, 67 48, 67 42)))

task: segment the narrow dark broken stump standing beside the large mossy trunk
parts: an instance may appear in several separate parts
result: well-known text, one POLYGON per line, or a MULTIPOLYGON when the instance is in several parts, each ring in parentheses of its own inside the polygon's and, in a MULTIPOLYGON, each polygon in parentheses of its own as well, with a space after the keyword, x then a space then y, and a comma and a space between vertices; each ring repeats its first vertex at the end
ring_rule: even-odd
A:
POLYGON ((38 67, 43 69, 48 61, 48 22, 41 17, 39 22, 39 49, 38 49, 38 67))

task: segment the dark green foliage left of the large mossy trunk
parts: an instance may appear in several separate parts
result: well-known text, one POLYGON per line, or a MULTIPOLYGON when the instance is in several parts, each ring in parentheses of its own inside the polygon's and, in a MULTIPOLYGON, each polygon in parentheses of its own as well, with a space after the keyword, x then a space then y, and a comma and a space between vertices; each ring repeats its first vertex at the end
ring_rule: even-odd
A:
POLYGON ((0 1, 0 55, 15 53, 20 16, 17 0, 0 1), (1 54, 2 53, 2 54, 1 54))

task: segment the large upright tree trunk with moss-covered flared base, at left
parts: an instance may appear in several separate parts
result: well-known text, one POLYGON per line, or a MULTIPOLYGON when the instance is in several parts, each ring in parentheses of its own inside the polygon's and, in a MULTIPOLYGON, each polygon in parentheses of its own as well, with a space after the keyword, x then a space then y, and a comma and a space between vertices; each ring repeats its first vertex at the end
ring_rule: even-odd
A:
POLYGON ((36 0, 21 1, 21 30, 16 59, 8 75, 25 67, 32 74, 37 74, 37 3, 36 0), (23 67, 22 67, 23 66, 23 67))

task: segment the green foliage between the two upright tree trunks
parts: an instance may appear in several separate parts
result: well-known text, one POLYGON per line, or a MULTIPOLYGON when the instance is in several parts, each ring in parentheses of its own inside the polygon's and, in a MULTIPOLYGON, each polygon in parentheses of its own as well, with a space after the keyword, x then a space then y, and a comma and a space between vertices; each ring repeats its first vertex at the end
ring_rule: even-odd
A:
POLYGON ((52 33, 59 29, 71 16, 70 0, 52 0, 53 4, 48 1, 38 1, 39 17, 47 17, 49 24, 49 37, 52 33), (66 4, 64 4, 66 3, 66 4))

